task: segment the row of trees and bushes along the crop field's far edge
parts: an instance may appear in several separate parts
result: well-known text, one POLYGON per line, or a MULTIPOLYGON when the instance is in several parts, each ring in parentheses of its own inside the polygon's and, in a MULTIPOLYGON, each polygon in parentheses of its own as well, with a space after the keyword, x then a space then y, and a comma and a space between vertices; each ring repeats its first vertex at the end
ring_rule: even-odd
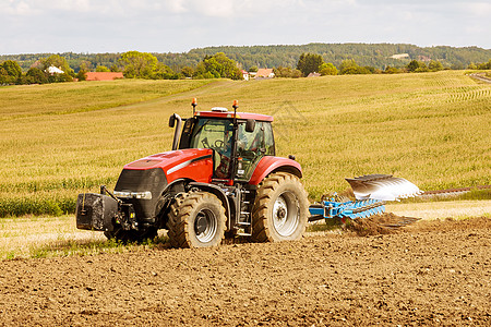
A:
MULTIPOLYGON (((110 68, 97 65, 96 72, 123 72, 127 78, 152 78, 152 80, 177 80, 177 78, 231 78, 242 80, 241 64, 224 52, 213 56, 205 55, 195 65, 185 65, 179 71, 172 70, 169 65, 158 60, 156 56, 148 52, 128 51, 119 56, 110 68)), ((491 69, 491 59, 488 62, 470 63, 469 69, 491 69)), ((277 77, 306 77, 311 73, 320 75, 337 74, 375 74, 375 73, 407 73, 407 72, 438 72, 445 68, 439 60, 411 60, 404 66, 386 65, 381 70, 371 65, 360 65, 355 59, 345 59, 338 66, 332 62, 325 62, 324 57, 318 53, 303 52, 295 68, 276 66, 274 73, 277 77), (427 63, 428 62, 428 63, 427 63)), ((38 59, 24 73, 21 65, 14 60, 0 62, 0 85, 9 84, 45 84, 58 82, 71 82, 86 80, 86 73, 94 70, 88 61, 80 63, 77 73, 73 70, 69 61, 60 55, 51 55, 38 59), (55 68, 55 71, 52 71, 55 68), (60 70, 57 72, 57 70, 60 70)), ((256 72, 258 66, 249 68, 249 71, 256 72)))

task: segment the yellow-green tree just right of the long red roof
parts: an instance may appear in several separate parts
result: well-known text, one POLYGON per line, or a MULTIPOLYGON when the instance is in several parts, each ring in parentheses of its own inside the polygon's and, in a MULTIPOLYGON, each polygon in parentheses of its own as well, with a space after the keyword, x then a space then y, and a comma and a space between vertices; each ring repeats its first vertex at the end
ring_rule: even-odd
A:
POLYGON ((124 66, 127 78, 152 78, 157 69, 157 58, 148 52, 128 51, 121 55, 119 62, 124 66))

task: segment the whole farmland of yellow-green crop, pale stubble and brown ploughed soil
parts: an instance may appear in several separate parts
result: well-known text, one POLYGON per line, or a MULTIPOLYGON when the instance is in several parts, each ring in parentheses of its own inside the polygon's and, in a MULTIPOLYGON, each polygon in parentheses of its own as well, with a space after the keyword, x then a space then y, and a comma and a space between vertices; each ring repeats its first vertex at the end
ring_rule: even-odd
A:
POLYGON ((462 72, 3 87, 0 325, 490 325, 488 191, 387 205, 423 218, 400 229, 312 225, 296 242, 169 249, 165 231, 123 245, 76 230, 76 194, 169 150, 168 118, 189 117, 193 97, 273 114, 311 201, 366 173, 491 184, 491 85, 462 72))

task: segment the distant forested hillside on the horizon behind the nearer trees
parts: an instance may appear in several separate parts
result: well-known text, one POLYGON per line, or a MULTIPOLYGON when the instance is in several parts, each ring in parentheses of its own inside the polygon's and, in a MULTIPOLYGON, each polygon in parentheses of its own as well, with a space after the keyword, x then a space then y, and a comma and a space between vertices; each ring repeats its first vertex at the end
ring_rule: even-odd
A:
MULTIPOLYGON (((343 60, 352 59, 361 66, 373 66, 384 70, 386 66, 403 68, 411 60, 438 60, 445 68, 466 69, 470 63, 487 62, 491 59, 491 49, 478 47, 454 48, 446 46, 418 47, 405 44, 308 44, 301 46, 224 46, 192 49, 183 53, 152 53, 159 62, 180 71, 183 66, 196 66, 205 56, 224 52, 237 61, 241 69, 256 68, 296 68, 300 55, 304 52, 321 55, 325 62, 339 66, 343 60), (394 55, 407 53, 403 59, 391 58, 394 55)), ((37 60, 55 53, 2 55, 4 60, 16 61, 23 71, 27 71, 37 60)), ((118 65, 121 53, 57 53, 65 58, 75 72, 82 63, 89 70, 99 65, 118 65)))

